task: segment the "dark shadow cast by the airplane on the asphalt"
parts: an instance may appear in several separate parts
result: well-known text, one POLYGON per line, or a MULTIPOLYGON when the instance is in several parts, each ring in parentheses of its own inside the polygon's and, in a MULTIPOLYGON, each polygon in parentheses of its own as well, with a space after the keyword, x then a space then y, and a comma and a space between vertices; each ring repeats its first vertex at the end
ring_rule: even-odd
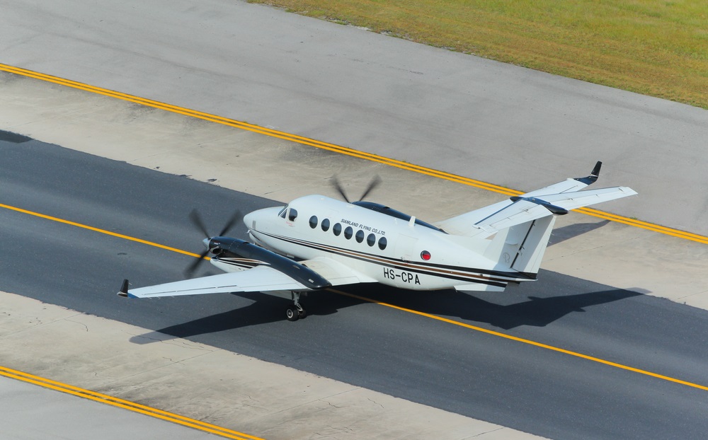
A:
MULTIPOLYGON (((606 289, 541 298, 539 296, 520 294, 517 290, 495 294, 486 294, 484 292, 463 293, 454 290, 405 291, 392 289, 380 284, 361 284, 343 287, 338 290, 413 311, 459 319, 473 325, 487 323, 504 330, 510 330, 522 325, 544 327, 569 313, 584 312, 586 308, 591 306, 641 296, 641 293, 636 291, 606 289), (524 298, 523 301, 519 301, 522 296, 524 298), (484 297, 486 299, 483 299, 484 297)), ((130 341, 136 344, 149 344, 170 340, 175 337, 188 338, 252 325, 285 321, 285 308, 290 304, 290 299, 261 293, 234 295, 250 299, 253 303, 223 313, 171 325, 144 335, 137 335, 132 337, 130 341)), ((310 292, 309 296, 302 298, 302 303, 307 309, 311 320, 316 320, 317 316, 331 315, 343 308, 357 306, 366 302, 362 299, 351 298, 332 291, 310 292)), ((302 325, 302 323, 285 323, 285 325, 294 325, 295 327, 292 330, 297 330, 297 325, 302 325)))

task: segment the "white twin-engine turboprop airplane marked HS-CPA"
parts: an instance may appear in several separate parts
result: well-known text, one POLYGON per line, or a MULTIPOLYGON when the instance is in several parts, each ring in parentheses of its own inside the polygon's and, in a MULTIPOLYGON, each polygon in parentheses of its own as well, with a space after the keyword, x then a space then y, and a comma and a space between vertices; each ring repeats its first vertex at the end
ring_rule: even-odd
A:
POLYGON ((239 221, 237 214, 219 236, 209 237, 193 212, 193 221, 209 237, 202 257, 212 255, 212 264, 228 273, 131 290, 125 280, 118 294, 292 291, 286 317, 297 320, 304 315, 302 292, 341 284, 503 291, 509 283, 536 279, 556 215, 636 194, 628 187, 578 191, 598 179, 601 165, 586 178, 569 178, 435 225, 382 204, 348 202, 338 183, 347 202, 308 195, 244 216, 255 244, 224 236, 239 221))

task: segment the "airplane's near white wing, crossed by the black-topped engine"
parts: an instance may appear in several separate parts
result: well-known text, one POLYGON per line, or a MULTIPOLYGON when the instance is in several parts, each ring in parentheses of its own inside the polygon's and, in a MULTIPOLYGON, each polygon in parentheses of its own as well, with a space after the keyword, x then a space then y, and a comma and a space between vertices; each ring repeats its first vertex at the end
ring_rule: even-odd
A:
MULTIPOLYGON (((331 286, 374 281, 329 258, 321 257, 299 263, 320 274, 331 286)), ((275 290, 304 291, 312 289, 269 265, 260 265, 253 267, 253 269, 239 272, 228 272, 225 274, 211 275, 209 277, 185 279, 183 281, 158 284, 156 286, 139 287, 138 289, 128 290, 127 286, 124 284, 118 294, 130 298, 154 298, 157 296, 204 295, 275 290)))

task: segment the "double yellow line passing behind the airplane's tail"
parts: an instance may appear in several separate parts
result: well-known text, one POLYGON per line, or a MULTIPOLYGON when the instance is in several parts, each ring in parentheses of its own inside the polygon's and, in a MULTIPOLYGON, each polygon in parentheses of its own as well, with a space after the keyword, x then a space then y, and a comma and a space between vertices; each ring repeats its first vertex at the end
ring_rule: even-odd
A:
MULTIPOLYGON (((120 100, 129 101, 131 103, 137 103, 141 105, 147 105, 148 107, 158 108, 161 110, 166 110, 168 112, 178 113, 180 115, 196 117, 201 120, 216 122, 217 124, 228 125, 229 127, 236 127, 239 129, 248 130, 249 132, 265 134, 266 136, 276 137, 278 139, 285 139, 287 141, 297 142, 298 144, 314 146, 319 149, 324 149, 327 151, 333 151, 339 154, 345 154, 347 156, 352 156, 355 158, 365 159, 367 161, 382 163, 384 165, 393 166, 396 168, 401 168, 402 170, 409 170, 415 173, 420 173, 424 175, 430 175, 435 178, 440 178, 444 180, 449 180, 450 182, 461 183, 463 185, 469 185, 472 187, 477 187, 483 190, 489 190, 497 192, 502 195, 521 195, 522 191, 512 190, 507 187, 502 187, 499 185, 493 185, 491 183, 482 182, 481 180, 474 180, 470 178, 465 178, 459 175, 445 173, 443 171, 433 170, 432 168, 427 168, 424 166, 413 165, 413 163, 406 163, 404 161, 397 161, 396 159, 387 158, 384 156, 379 156, 377 154, 366 153, 364 151, 357 151, 355 149, 350 149, 346 146, 339 146, 335 144, 329 144, 323 141, 317 141, 316 139, 309 139, 307 137, 298 136, 297 134, 290 134, 286 132, 280 132, 275 129, 269 129, 265 127, 259 127, 258 125, 249 124, 248 122, 241 122, 237 120, 232 120, 227 117, 212 115, 206 112, 200 112, 198 110, 190 110, 188 108, 178 107, 177 105, 170 105, 166 103, 161 103, 156 100, 151 100, 147 98, 140 98, 134 95, 128 95, 127 93, 120 93, 116 91, 110 91, 105 88, 89 86, 88 84, 79 83, 77 81, 72 81, 69 79, 59 78, 58 76, 52 76, 47 74, 41 74, 39 72, 31 71, 28 69, 22 69, 20 67, 9 66, 7 64, 0 64, 0 71, 6 71, 11 74, 18 74, 22 76, 27 76, 28 78, 40 79, 42 81, 47 81, 50 83, 59 84, 62 86, 77 88, 83 91, 89 91, 91 93, 97 93, 99 95, 110 96, 111 98, 117 98, 120 100)), ((701 236, 695 233, 680 231, 679 229, 668 228, 666 226, 659 226, 656 224, 651 224, 646 221, 640 221, 636 219, 630 219, 629 217, 618 216, 616 214, 609 214, 607 212, 600 211, 593 208, 581 208, 576 209, 576 212, 581 212, 583 214, 588 214, 590 216, 598 217, 599 219, 605 219, 610 221, 616 221, 617 223, 627 224, 629 226, 634 226, 636 228, 642 228, 653 232, 663 233, 668 236, 673 236, 677 238, 683 238, 685 240, 696 241, 698 243, 708 244, 708 237, 701 236)))

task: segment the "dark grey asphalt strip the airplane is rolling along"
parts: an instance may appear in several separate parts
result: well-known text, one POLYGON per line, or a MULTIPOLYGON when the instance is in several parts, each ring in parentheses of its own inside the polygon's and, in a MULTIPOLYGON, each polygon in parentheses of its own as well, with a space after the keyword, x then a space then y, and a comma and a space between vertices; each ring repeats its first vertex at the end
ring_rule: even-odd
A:
MULTIPOLYGON (((35 141, 3 146, 4 203, 175 248, 200 241, 186 219, 193 206, 218 227, 234 205, 249 211, 278 204, 35 141), (185 195, 190 205, 183 203, 185 195)), ((324 163, 326 156, 307 157, 324 163)), ((282 320, 287 300, 262 294, 125 301, 113 295, 122 276, 135 285, 179 279, 190 258, 22 213, 1 214, 2 251, 11 264, 0 289, 151 329, 131 338, 137 344, 149 346, 158 333, 181 337, 549 438, 697 438, 708 428, 700 388, 331 293, 311 294, 310 316, 295 326, 282 320), (14 245, 19 242, 23 246, 14 245), (21 264, 25 249, 40 250, 32 265, 21 264)), ((244 231, 234 231, 239 233, 244 231)), ((376 286, 347 291, 698 386, 708 383, 701 343, 708 338, 707 312, 634 291, 553 272, 503 295, 411 294, 376 286)), ((132 381, 126 390, 110 385, 129 400, 149 400, 144 393, 154 391, 136 390, 132 381)), ((172 405, 183 400, 165 397, 172 405)))

